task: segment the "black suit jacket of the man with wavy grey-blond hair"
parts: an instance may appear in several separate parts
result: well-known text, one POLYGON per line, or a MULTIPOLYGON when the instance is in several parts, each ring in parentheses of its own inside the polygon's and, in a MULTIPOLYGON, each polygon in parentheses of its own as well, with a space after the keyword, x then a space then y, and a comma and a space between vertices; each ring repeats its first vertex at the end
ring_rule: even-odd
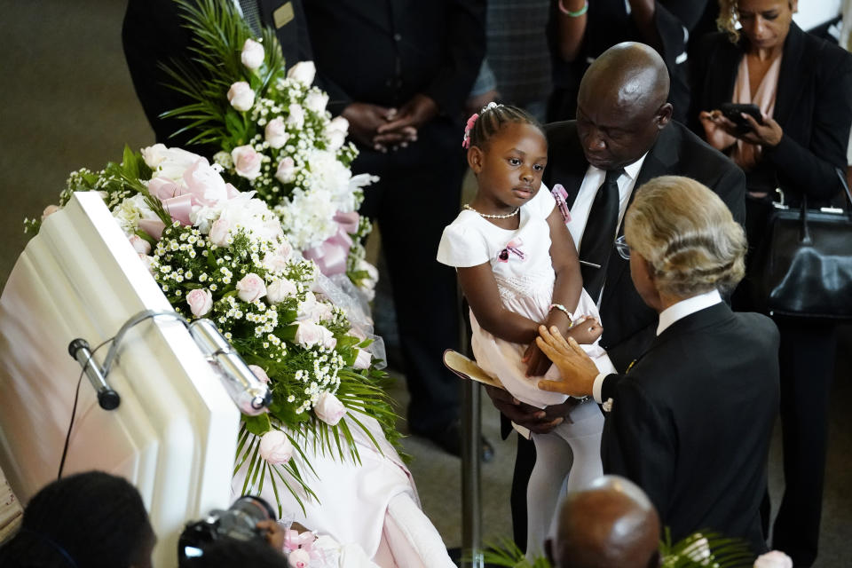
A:
POLYGON ((760 505, 778 412, 778 337, 771 319, 716 304, 664 330, 619 377, 604 473, 642 487, 673 540, 709 529, 766 550, 760 505))

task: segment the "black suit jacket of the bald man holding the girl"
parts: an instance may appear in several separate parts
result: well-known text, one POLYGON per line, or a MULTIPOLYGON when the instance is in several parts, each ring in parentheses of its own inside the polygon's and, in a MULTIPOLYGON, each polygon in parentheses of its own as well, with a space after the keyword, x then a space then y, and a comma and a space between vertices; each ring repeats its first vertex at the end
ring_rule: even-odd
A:
MULTIPOLYGON (((544 172, 544 181, 548 187, 562 184, 568 192, 567 201, 571 207, 588 170, 576 122, 548 124, 545 133, 548 138, 548 168, 544 172)), ((666 175, 698 180, 722 198, 738 223, 744 223, 746 177, 742 170, 679 122, 669 122, 659 133, 639 171, 635 189, 653 177, 666 175)), ((588 220, 589 224, 594 222, 594 219, 588 220)), ((622 224, 619 234, 623 233, 622 224)), ((626 369, 645 351, 657 325, 657 313, 645 305, 636 292, 630 278, 629 262, 614 252, 607 267, 601 319, 604 325, 601 346, 619 370, 626 369)))

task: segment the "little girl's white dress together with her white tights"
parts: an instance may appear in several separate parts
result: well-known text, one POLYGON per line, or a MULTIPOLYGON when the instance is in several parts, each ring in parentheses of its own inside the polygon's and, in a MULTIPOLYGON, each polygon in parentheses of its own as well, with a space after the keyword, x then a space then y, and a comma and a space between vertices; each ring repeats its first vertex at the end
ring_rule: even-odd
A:
MULTIPOLYGON (((541 185, 533 199, 521 207, 517 230, 501 229, 475 211, 463 210, 444 230, 438 262, 454 267, 491 264, 503 305, 534 321, 544 321, 556 280, 547 222, 555 206, 553 196, 541 185)), ((582 316, 599 319, 595 302, 586 290, 581 292, 577 306, 565 307, 573 308, 574 319, 582 316)), ((473 312, 470 312, 470 326, 477 364, 500 379, 515 398, 540 408, 565 401, 567 397, 563 394, 539 390, 536 385, 540 377, 526 376, 526 365, 521 361, 526 345, 505 341, 485 331, 473 312)), ((606 351, 597 343, 582 347, 601 372, 614 373, 606 351)), ((550 367, 545 377, 558 377, 556 366, 550 367)), ((570 423, 566 420, 549 434, 533 434, 538 458, 527 491, 528 554, 540 552, 564 486, 580 487, 603 473, 600 438, 604 418, 600 409, 594 400, 588 399, 573 408, 568 417, 570 423)))

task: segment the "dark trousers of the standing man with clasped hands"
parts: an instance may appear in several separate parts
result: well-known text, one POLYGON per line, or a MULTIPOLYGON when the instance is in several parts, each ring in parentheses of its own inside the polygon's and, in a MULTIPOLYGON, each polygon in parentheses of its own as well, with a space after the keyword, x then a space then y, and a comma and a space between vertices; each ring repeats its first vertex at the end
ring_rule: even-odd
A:
POLYGON ((455 125, 437 119, 407 148, 361 149, 353 173, 380 177, 361 213, 378 221, 411 394, 409 429, 425 433, 459 416, 461 382, 443 363, 459 349, 455 271, 435 259, 444 227, 459 212, 463 152, 455 125), (458 140, 456 139, 458 138, 458 140))

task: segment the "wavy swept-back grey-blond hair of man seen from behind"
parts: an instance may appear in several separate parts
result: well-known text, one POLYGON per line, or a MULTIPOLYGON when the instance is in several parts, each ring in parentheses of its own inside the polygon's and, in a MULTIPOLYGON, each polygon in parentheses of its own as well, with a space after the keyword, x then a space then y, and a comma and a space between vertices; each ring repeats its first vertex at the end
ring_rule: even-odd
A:
POLYGON ((746 272, 746 233, 718 195, 689 177, 656 177, 640 187, 624 234, 668 295, 726 292, 746 272))

